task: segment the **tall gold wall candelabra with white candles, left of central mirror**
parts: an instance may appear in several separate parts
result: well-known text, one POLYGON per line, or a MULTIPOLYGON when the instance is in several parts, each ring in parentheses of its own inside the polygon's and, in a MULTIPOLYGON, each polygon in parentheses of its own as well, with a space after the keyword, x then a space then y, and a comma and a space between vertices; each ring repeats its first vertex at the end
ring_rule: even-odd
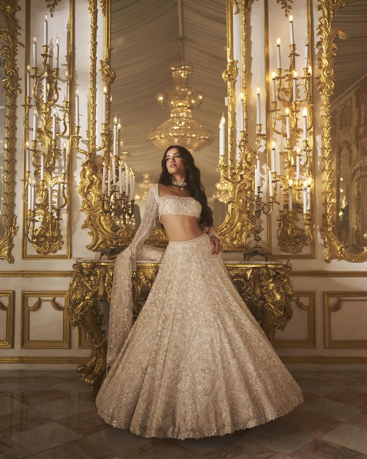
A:
POLYGON ((68 78, 65 76, 64 100, 62 106, 56 104, 59 99, 59 41, 56 39, 56 49, 53 56, 48 53, 47 45, 47 15, 44 16, 44 44, 41 56, 42 68, 38 71, 36 38, 33 38, 33 67, 29 65, 26 72, 26 90, 23 125, 26 133, 25 142, 25 179, 23 201, 27 205, 25 218, 26 240, 33 244, 37 253, 46 255, 54 253, 62 246, 62 235, 59 221, 61 209, 66 207, 66 142, 62 153, 58 141, 67 132, 66 115, 69 110, 68 78), (50 58, 55 60, 51 68, 50 58), (31 78, 33 84, 31 87, 31 78), (33 126, 28 126, 30 109, 33 108, 33 126), (40 122, 40 127, 38 123, 40 122), (57 127, 61 124, 58 131, 57 127), (29 133, 32 132, 31 147, 29 133), (30 148, 29 148, 30 147, 30 148), (53 171, 57 159, 62 158, 62 172, 54 176, 53 171), (33 176, 31 172, 33 167, 33 176), (39 177, 37 185, 36 178, 39 177), (61 202, 62 201, 62 202, 61 202), (36 224, 39 224, 36 227, 36 224))

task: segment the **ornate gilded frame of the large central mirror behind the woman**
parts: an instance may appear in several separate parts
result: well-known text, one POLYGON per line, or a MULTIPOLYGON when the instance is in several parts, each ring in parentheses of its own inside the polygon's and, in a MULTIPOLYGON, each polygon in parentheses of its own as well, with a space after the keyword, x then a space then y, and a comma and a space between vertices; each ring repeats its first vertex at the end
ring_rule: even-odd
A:
MULTIPOLYGON (((226 0, 223 4, 223 8, 226 8, 223 13, 226 13, 226 30, 227 30, 227 63, 224 64, 223 71, 223 84, 227 84, 227 95, 228 95, 228 150, 230 157, 233 157, 236 150, 236 131, 235 131, 235 94, 234 85, 235 79, 238 75, 237 61, 233 58, 233 14, 240 12, 240 8, 247 10, 247 3, 242 2, 242 5, 237 0, 226 0)), ((89 98, 89 127, 88 137, 93 145, 96 142, 96 130, 95 125, 92 122, 95 119, 96 113, 96 77, 97 77, 97 56, 96 47, 94 45, 96 41, 96 30, 97 30, 97 19, 98 19, 98 6, 97 0, 88 0, 88 10, 90 13, 90 32, 91 32, 91 66, 90 66, 90 98, 89 98)), ((99 7, 104 18, 104 56, 103 60, 100 60, 100 72, 103 80, 103 85, 106 87, 107 94, 107 107, 106 117, 109 119, 111 106, 110 106, 110 94, 111 84, 115 79, 115 72, 111 68, 111 2, 110 0, 100 0, 99 7)), ((91 148, 93 150, 93 148, 91 148)), ((109 152, 104 151, 104 158, 107 158, 109 152)), ((113 235, 111 230, 111 224, 109 217, 102 213, 101 210, 101 190, 100 182, 102 178, 102 166, 97 165, 94 158, 94 153, 91 151, 86 156, 81 166, 80 172, 80 185, 79 193, 82 197, 81 210, 86 214, 86 219, 82 225, 82 229, 89 229, 88 234, 92 237, 91 242, 87 245, 87 248, 93 251, 100 251, 106 248, 106 244, 109 244, 111 236, 113 235)), ((231 233, 237 231, 240 228, 243 233, 244 227, 246 231, 251 232, 248 225, 246 216, 243 213, 238 212, 239 203, 232 200, 233 204, 228 204, 228 209, 224 222, 217 227, 219 234, 221 235, 222 245, 224 250, 244 250, 245 246, 241 243, 236 245, 232 244, 232 241, 236 237, 232 237, 231 233), (245 220, 245 222, 244 222, 245 220), (233 248, 232 248, 233 247, 233 248), (235 248, 234 248, 235 247, 235 248)), ((131 230, 127 225, 122 227, 119 231, 119 240, 124 245, 129 244, 133 238, 135 230, 131 230)), ((242 234, 243 235, 243 234, 242 234)), ((244 240, 242 237, 241 240, 244 240)), ((148 238, 149 243, 153 245, 165 245, 168 242, 166 233, 162 229, 157 229, 152 232, 148 238)))

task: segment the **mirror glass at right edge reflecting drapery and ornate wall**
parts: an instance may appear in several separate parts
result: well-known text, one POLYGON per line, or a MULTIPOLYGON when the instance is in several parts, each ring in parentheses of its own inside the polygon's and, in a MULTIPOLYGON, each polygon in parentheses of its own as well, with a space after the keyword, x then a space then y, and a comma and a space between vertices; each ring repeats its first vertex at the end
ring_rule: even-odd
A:
POLYGON ((346 2, 333 21, 333 28, 349 35, 345 40, 336 40, 335 89, 331 100, 335 231, 352 253, 363 251, 367 245, 366 24, 366 0, 346 2))

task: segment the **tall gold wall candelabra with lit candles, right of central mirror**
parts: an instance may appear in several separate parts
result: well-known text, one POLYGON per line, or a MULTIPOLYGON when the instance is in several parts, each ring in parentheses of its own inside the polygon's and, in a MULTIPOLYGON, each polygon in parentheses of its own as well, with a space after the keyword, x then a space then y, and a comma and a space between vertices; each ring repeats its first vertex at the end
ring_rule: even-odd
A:
MULTIPOLYGON (((312 129, 312 112, 310 108, 311 73, 308 66, 309 46, 305 45, 303 76, 299 77, 296 68, 296 45, 293 37, 293 17, 290 23, 290 64, 288 68, 281 67, 280 40, 277 40, 277 71, 272 73, 272 130, 275 134, 285 139, 285 149, 280 151, 283 157, 284 173, 277 171, 275 143, 271 150, 271 175, 274 183, 274 198, 279 195, 279 226, 278 245, 285 252, 299 253, 305 245, 312 241, 311 227, 313 216, 311 211, 311 148, 308 132, 312 129), (302 81, 302 83, 300 83, 302 81), (300 97, 300 87, 303 87, 303 96, 300 97), (303 128, 298 127, 298 118, 301 107, 304 106, 303 128), (281 107, 281 108, 280 108, 281 107), (284 114, 285 113, 285 114, 284 114), (285 125, 285 132, 277 127, 280 122, 285 125), (303 132, 302 145, 299 147, 301 133, 303 132), (303 176, 303 178, 301 178, 303 176), (279 187, 277 184, 279 183, 279 187), (284 189, 288 190, 283 197, 284 189), (304 228, 297 224, 302 213, 301 197, 303 197, 304 228), (284 209, 284 201, 286 209, 284 209)), ((280 161, 279 161, 280 163, 280 161)))

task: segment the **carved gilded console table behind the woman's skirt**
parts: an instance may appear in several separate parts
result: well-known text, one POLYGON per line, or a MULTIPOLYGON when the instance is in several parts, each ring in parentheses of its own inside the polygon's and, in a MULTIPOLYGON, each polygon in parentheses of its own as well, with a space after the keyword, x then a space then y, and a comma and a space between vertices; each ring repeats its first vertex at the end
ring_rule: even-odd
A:
MULTIPOLYGON (((76 371, 89 386, 98 386, 106 370, 107 338, 103 314, 98 307, 104 296, 111 299, 113 260, 75 259, 73 280, 69 286, 67 314, 73 328, 86 331, 92 342, 89 360, 76 371)), ((293 311, 292 285, 287 261, 226 263, 227 269, 247 307, 269 339, 275 330, 284 330, 293 311)), ((152 287, 160 263, 137 263, 133 276, 135 322, 142 306, 138 298, 145 286, 152 287)))

